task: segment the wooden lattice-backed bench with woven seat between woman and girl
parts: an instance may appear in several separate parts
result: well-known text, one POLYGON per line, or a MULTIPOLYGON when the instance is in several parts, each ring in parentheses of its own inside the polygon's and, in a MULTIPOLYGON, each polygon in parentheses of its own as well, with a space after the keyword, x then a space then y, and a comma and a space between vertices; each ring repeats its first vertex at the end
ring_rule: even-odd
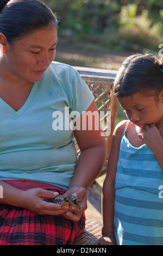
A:
MULTIPOLYGON (((89 86, 91 92, 95 96, 95 102, 98 113, 101 118, 101 123, 104 126, 105 138, 107 143, 106 161, 103 169, 99 175, 106 173, 108 166, 108 157, 111 148, 112 133, 115 128, 116 113, 117 113, 117 99, 113 94, 114 80, 117 71, 101 70, 92 68, 81 68, 75 66, 80 76, 89 86)), ((74 138, 75 139, 75 138, 74 138)), ((77 154, 79 156, 80 150, 76 143, 77 154)), ((101 213, 101 196, 102 187, 94 181, 87 190, 87 200, 101 213)), ((97 239, 101 236, 102 223, 97 221, 86 220, 85 230, 81 235, 76 237, 73 245, 94 245, 97 239)))

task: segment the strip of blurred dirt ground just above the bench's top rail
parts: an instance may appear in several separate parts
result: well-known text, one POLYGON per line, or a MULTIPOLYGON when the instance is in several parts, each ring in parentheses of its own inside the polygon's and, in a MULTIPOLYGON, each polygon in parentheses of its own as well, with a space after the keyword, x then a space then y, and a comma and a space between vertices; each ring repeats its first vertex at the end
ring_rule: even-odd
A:
POLYGON ((87 68, 118 70, 126 57, 133 51, 116 52, 114 50, 101 51, 89 47, 68 46, 58 43, 55 60, 72 66, 85 66, 87 68))

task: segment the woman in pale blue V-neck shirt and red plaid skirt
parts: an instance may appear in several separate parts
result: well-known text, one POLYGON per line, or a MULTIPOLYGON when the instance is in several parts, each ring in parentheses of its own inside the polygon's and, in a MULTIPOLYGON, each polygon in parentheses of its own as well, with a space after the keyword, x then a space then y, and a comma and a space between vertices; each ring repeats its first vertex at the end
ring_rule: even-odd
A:
POLYGON ((53 62, 57 19, 42 2, 1 1, 0 45, 0 245, 71 245, 106 153, 100 129, 70 129, 71 116, 82 127, 95 101, 76 70, 53 62), (64 193, 81 209, 53 203, 64 193))

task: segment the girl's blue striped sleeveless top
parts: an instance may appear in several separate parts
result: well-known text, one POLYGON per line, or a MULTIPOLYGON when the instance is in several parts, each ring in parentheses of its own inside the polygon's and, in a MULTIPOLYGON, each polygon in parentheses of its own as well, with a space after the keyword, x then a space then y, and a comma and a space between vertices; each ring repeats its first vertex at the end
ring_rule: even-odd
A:
POLYGON ((117 245, 163 245, 163 172, 152 151, 134 148, 124 129, 115 181, 117 245))

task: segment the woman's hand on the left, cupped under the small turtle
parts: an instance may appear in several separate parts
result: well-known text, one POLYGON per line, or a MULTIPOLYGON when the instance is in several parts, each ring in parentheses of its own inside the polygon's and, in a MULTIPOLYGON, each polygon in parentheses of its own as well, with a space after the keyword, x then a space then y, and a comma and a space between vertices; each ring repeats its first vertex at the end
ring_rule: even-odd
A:
POLYGON ((43 190, 42 188, 32 188, 20 192, 20 206, 39 215, 60 215, 68 210, 68 205, 60 208, 59 204, 45 201, 45 198, 55 198, 57 196, 57 192, 43 190))

